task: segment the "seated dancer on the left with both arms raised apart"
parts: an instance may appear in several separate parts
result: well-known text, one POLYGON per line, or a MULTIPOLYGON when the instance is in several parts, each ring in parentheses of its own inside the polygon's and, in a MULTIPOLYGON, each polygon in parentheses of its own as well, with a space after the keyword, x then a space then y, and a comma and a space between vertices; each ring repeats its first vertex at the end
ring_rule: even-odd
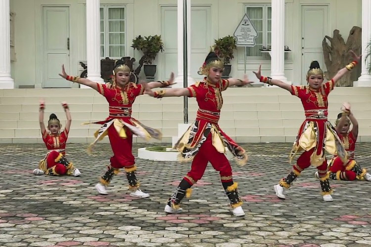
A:
POLYGON ((72 119, 67 103, 62 102, 62 106, 67 117, 64 130, 62 133, 60 132, 62 124, 60 124, 57 116, 52 113, 47 122, 48 131, 46 131, 44 124, 45 101, 40 100, 39 123, 43 141, 48 152, 44 160, 39 162, 39 168, 34 169, 33 173, 35 175, 59 176, 67 174, 74 175, 75 177, 81 175, 79 169, 75 168, 72 162, 66 159, 66 142, 72 119))

